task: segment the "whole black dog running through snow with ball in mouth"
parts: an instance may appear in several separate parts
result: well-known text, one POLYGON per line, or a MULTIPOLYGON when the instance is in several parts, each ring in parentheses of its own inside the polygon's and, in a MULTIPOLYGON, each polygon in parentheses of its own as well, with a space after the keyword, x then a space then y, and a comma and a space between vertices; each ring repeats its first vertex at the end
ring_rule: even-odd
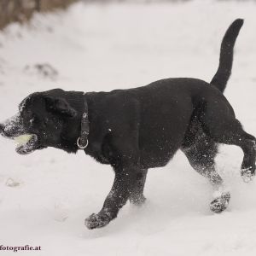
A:
MULTIPOLYGON (((210 84, 199 79, 163 79, 130 90, 37 92, 1 125, 2 134, 9 138, 30 134, 16 148, 19 154, 47 147, 76 153, 82 148, 102 164, 113 166, 113 187, 101 212, 85 220, 89 229, 116 218, 128 199, 142 204, 148 168, 166 166, 178 148, 219 189, 223 180, 214 169, 217 145, 239 146, 244 153, 241 175, 250 179, 255 172, 255 137, 242 130, 223 95, 242 24, 243 20, 235 20, 226 32, 218 72, 210 84)), ((230 193, 222 191, 210 207, 222 212, 229 201, 230 193)))

